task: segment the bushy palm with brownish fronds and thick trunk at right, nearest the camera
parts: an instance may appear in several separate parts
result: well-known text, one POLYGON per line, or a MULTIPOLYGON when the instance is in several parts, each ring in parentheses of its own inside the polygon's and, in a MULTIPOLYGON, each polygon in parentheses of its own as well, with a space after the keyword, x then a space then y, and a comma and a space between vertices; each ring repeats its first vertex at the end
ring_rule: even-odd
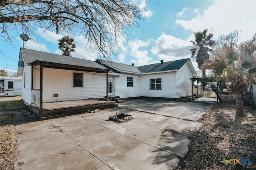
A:
POLYGON ((234 37, 236 33, 221 37, 222 45, 202 68, 211 69, 216 77, 228 81, 230 93, 236 95, 236 115, 244 116, 242 95, 248 92, 250 83, 256 82, 256 34, 251 40, 237 43, 236 38, 230 40, 230 35, 234 37))

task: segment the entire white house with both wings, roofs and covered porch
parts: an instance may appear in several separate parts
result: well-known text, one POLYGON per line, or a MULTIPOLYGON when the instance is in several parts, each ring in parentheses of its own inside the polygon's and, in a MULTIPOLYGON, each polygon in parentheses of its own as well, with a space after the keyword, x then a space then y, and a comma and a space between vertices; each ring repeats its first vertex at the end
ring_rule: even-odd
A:
MULTIPOLYGON (((190 59, 136 67, 20 48, 18 75, 23 77, 22 99, 38 119, 43 120, 75 113, 74 102, 69 110, 59 108, 57 111, 51 111, 53 107, 46 107, 45 103, 106 97, 106 103, 102 104, 106 107, 111 103, 108 95, 121 98, 188 97, 191 95, 191 78, 196 72, 190 59)), ((116 106, 116 103, 111 105, 116 106)), ((78 107, 76 112, 86 108, 78 107)))

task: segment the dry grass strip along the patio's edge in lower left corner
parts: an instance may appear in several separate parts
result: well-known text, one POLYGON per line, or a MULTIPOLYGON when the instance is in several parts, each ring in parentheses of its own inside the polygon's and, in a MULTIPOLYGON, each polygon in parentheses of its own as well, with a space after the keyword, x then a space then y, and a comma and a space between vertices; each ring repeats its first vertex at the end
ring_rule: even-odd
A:
POLYGON ((16 131, 10 114, 0 114, 0 169, 14 169, 16 131))

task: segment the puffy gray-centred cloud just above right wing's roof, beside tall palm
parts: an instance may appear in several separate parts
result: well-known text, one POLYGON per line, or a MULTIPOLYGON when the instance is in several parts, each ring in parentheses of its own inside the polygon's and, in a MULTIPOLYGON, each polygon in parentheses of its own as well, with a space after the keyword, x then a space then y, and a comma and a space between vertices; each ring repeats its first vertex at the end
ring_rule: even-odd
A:
POLYGON ((184 41, 180 38, 175 38, 172 35, 162 34, 153 43, 150 51, 154 55, 158 55, 164 61, 172 61, 190 57, 187 55, 187 47, 191 45, 190 42, 184 41))

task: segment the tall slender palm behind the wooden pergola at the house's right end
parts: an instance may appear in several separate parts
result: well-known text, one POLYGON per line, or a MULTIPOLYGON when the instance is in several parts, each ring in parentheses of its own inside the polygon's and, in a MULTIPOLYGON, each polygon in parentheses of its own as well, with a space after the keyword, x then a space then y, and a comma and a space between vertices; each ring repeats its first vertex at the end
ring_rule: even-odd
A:
MULTIPOLYGON (((209 51, 211 51, 212 47, 214 46, 215 42, 212 40, 213 35, 212 33, 207 34, 208 29, 204 29, 203 32, 195 32, 195 41, 190 41, 193 43, 189 47, 191 57, 194 58, 196 56, 196 62, 198 63, 198 68, 201 69, 204 61, 209 59, 209 51)), ((205 77, 206 73, 205 70, 202 70, 202 76, 205 77)), ((203 90, 205 89, 206 83, 202 83, 203 90)))

